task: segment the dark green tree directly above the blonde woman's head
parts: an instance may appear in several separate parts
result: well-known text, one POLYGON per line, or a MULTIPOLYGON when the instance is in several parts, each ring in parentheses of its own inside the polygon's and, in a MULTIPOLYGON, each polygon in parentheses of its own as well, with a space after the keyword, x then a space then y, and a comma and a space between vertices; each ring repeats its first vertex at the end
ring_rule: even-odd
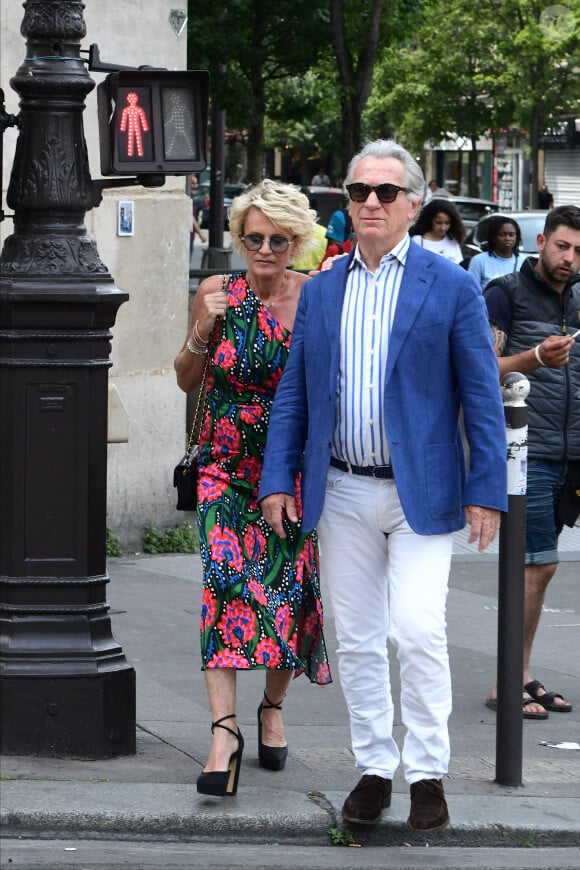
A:
POLYGON ((268 89, 304 75, 329 42, 327 0, 189 4, 188 65, 211 74, 230 125, 248 131, 248 177, 261 178, 268 89))

